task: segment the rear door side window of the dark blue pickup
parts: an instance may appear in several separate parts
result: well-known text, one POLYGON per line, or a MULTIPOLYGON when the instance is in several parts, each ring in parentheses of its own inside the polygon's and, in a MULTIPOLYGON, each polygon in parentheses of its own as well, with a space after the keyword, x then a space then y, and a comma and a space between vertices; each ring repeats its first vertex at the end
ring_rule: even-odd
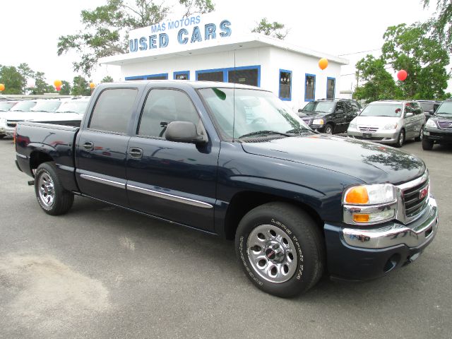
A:
POLYGON ((110 88, 97 98, 89 129, 127 133, 138 90, 136 88, 110 88))

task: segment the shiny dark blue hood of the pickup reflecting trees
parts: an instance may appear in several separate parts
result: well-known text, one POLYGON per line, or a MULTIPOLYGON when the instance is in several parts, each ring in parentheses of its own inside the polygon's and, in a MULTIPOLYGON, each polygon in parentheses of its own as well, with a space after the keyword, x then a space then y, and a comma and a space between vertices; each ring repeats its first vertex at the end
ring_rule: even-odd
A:
POLYGON ((400 184, 425 171, 422 160, 390 146, 327 134, 242 143, 242 147, 246 153, 330 169, 367 184, 400 184))

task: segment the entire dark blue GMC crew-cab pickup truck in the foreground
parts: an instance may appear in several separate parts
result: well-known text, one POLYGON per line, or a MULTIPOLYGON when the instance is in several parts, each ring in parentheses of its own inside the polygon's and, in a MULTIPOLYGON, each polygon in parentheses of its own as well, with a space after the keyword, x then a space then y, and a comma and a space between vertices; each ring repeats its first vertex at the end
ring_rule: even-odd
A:
POLYGON ((281 297, 385 275, 438 223, 422 160, 314 132, 244 85, 102 84, 80 128, 19 123, 16 152, 46 213, 76 194, 235 239, 251 282, 281 297))

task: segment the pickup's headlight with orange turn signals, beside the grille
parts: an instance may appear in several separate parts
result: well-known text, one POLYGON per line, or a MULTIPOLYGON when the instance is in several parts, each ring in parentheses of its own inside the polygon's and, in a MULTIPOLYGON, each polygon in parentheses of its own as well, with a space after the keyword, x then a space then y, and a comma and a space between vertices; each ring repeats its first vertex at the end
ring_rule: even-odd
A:
POLYGON ((353 186, 343 194, 344 222, 371 224, 396 217, 397 189, 392 184, 353 186))

